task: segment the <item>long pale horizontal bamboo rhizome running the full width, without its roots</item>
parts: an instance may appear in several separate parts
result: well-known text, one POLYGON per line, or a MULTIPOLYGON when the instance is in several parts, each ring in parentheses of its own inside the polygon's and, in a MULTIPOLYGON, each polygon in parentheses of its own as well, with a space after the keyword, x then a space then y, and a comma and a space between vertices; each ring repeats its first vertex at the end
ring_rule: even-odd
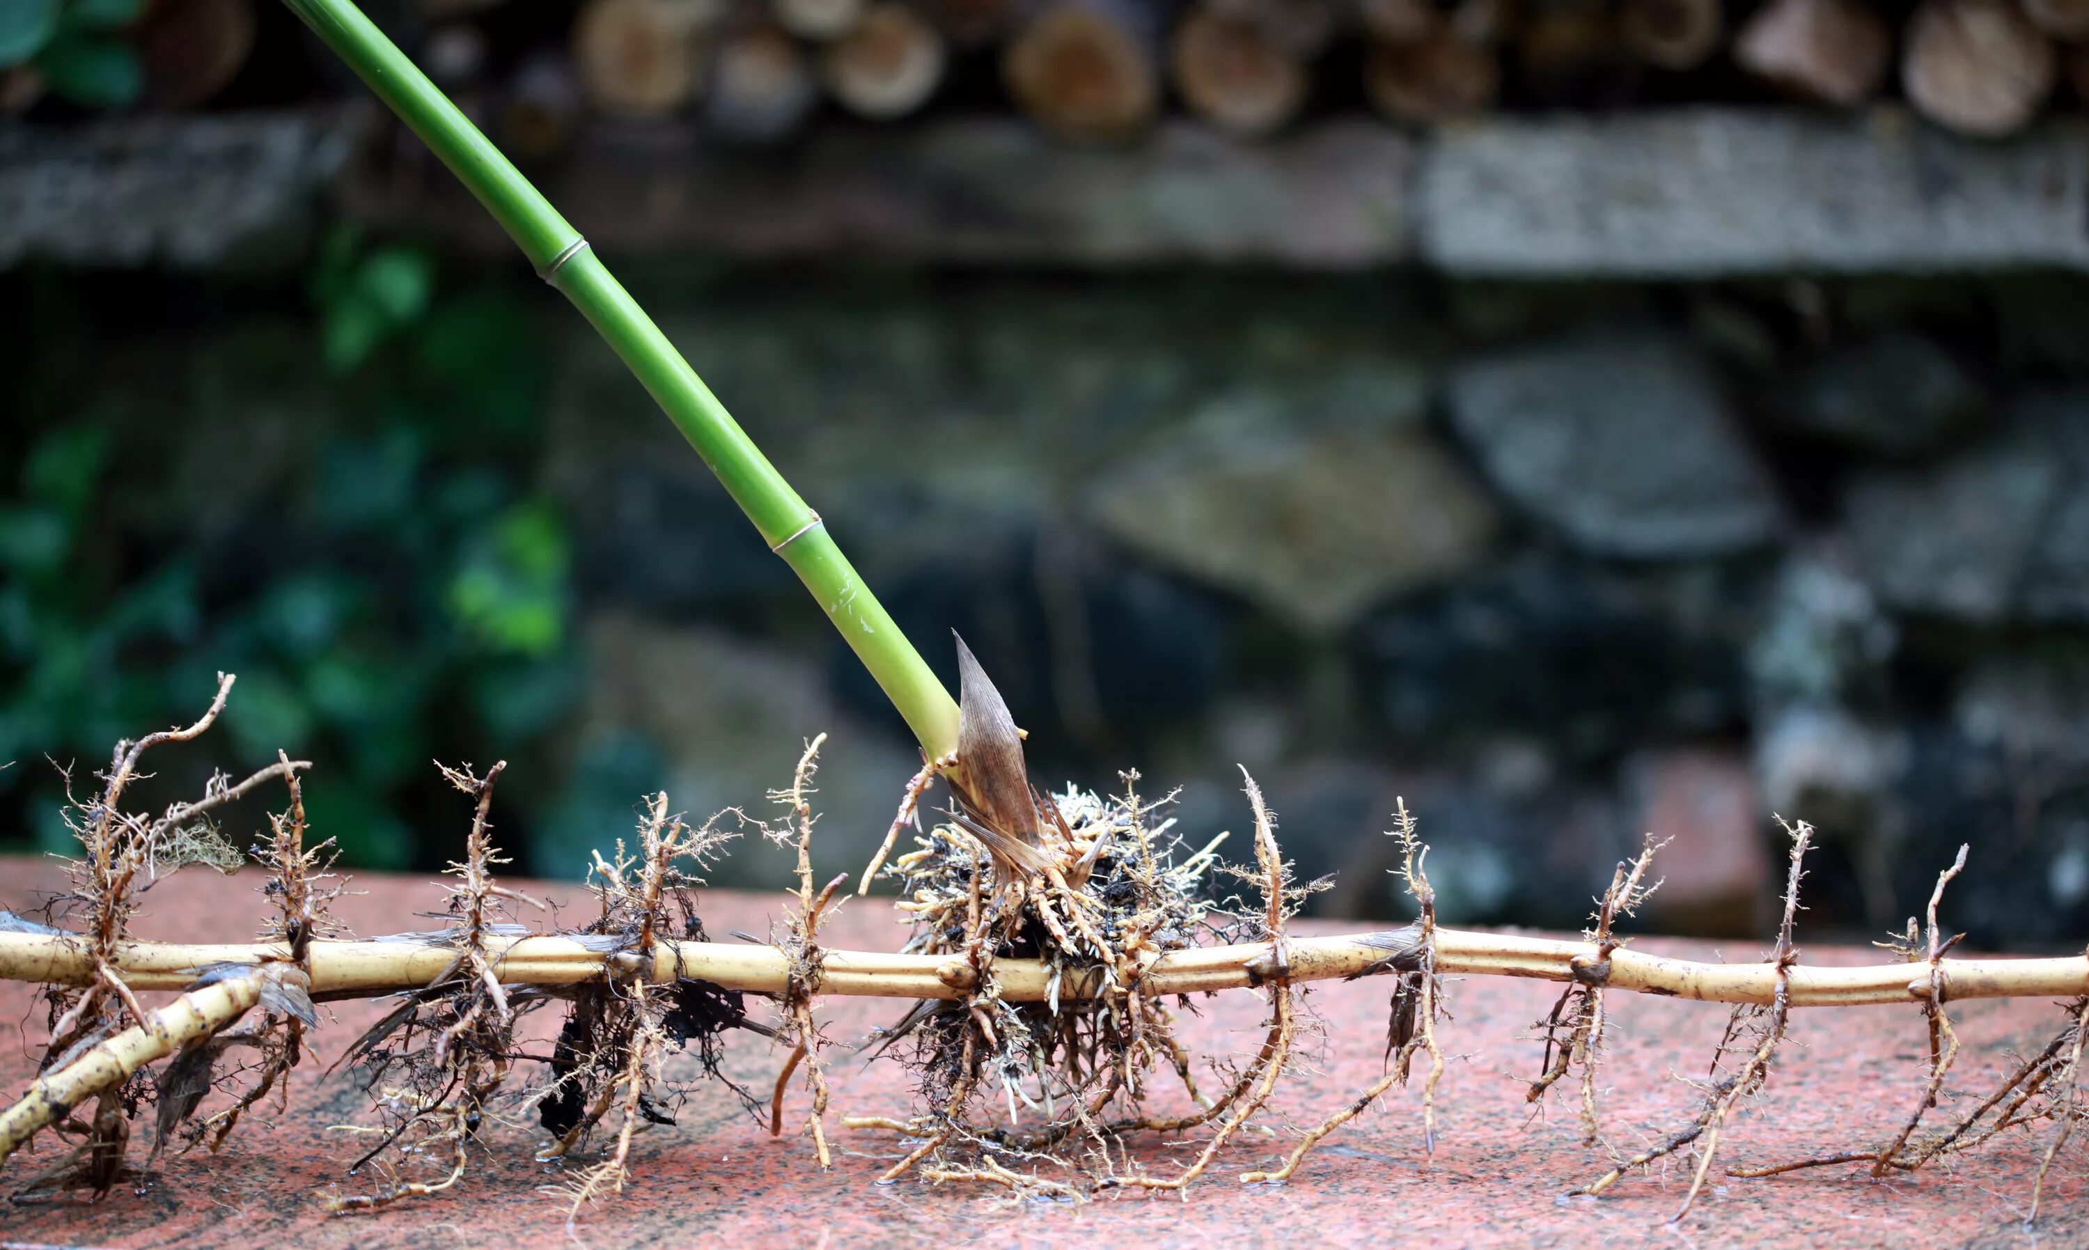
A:
MULTIPOLYGON (((1368 974, 1395 951, 1410 951, 1416 930, 1404 928, 1352 936, 1287 939, 1287 980, 1337 980, 1368 974)), ((1145 966, 1145 995, 1245 989, 1272 978, 1270 943, 1239 943, 1174 951, 1145 966)), ((579 985, 606 976, 646 974, 654 982, 694 978, 750 993, 783 993, 790 955, 777 947, 727 943, 662 943, 648 962, 633 951, 606 949, 606 941, 574 936, 487 939, 487 955, 508 985, 579 985)), ((1629 949, 1613 951, 1609 966, 1594 943, 1525 934, 1435 930, 1439 974, 1525 976, 1604 985, 1717 1003, 1769 1003, 1776 995, 1774 964, 1696 964, 1629 949)), ((115 970, 132 989, 186 989, 201 970, 221 964, 286 959, 282 945, 178 945, 123 943, 115 970)), ((455 959, 455 947, 426 939, 315 941, 311 943, 313 997, 370 997, 420 989, 455 959)), ((1941 959, 1945 1001, 1982 997, 2089 995, 2089 957, 2053 959, 1941 959)), ((88 985, 94 962, 71 936, 0 932, 0 978, 88 985)), ((823 951, 819 993, 844 997, 961 999, 973 989, 961 959, 823 951)), ((1007 1001, 1053 997, 1053 970, 1036 959, 996 959, 994 982, 1007 1001)), ((1930 997, 1928 964, 1876 964, 1863 968, 1788 970, 1794 1008, 1849 1008, 1911 1003, 1930 997)), ((1090 999, 1109 993, 1097 968, 1065 968, 1057 997, 1090 999)), ((1122 987, 1120 987, 1122 989, 1122 987)))

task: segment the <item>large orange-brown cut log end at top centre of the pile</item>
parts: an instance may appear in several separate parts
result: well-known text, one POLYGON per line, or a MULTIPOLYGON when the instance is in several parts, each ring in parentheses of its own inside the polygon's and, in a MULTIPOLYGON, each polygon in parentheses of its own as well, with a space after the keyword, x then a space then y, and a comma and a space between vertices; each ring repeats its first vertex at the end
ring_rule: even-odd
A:
POLYGON ((1044 130, 1078 140, 1130 138, 1153 121, 1153 54, 1128 23, 1063 0, 1009 44, 1003 73, 1017 107, 1044 130))

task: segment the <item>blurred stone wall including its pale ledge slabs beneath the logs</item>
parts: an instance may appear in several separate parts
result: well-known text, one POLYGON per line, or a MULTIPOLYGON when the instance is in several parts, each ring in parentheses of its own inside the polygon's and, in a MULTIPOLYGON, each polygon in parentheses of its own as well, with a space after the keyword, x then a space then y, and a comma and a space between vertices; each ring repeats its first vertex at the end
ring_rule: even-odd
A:
MULTIPOLYGON (((1673 109, 1074 148, 953 117, 754 153, 666 123, 531 173, 946 675, 965 633, 1040 780, 1139 767, 1201 842, 1241 828, 1245 765, 1335 874, 1316 907, 1360 916, 1400 905, 1402 796, 1454 920, 1577 924, 1652 832, 1654 922, 1753 932, 1784 813, 1824 832, 1811 918, 1876 932, 1966 840, 1957 922, 2047 943, 2089 926, 2081 128, 1673 109)), ((512 280, 558 343, 541 464, 514 452, 537 431, 501 452, 574 527, 589 654, 579 721, 503 784, 531 867, 568 872, 660 782, 758 803, 815 732, 823 859, 861 861, 915 767, 896 717, 374 111, 0 130, 0 324, 36 374, 0 403, 75 393, 44 416, 121 431, 111 506, 196 548, 205 594, 236 583, 295 466, 397 399, 318 370, 322 199, 512 280)), ((783 867, 746 847, 719 880, 783 867)))

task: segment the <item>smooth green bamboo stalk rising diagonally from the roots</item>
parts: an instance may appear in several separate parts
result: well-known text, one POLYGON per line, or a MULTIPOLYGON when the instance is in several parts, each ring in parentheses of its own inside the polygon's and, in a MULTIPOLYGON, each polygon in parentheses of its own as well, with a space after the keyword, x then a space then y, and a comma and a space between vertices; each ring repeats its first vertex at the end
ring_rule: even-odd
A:
POLYGON ((717 395, 675 351, 660 326, 610 276, 581 232, 464 113, 380 31, 353 0, 284 0, 426 142, 522 249, 581 309, 643 383, 675 429, 725 485, 769 550, 798 573, 821 610, 907 719, 930 759, 957 750, 957 702, 834 546, 827 527, 717 395))

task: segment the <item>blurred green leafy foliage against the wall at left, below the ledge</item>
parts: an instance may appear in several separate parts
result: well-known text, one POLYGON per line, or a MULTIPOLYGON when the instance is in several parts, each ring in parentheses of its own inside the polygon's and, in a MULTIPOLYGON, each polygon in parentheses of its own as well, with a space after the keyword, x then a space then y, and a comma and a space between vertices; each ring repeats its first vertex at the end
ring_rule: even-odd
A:
MULTIPOLYGON (((123 380, 88 378, 71 408, 33 414, 0 483, 0 763, 17 761, 0 803, 21 805, 0 836, 56 807, 44 755, 98 767, 117 738, 194 717, 217 671, 240 675, 219 763, 313 759, 307 807, 349 863, 443 863, 455 830, 412 817, 432 757, 549 755, 581 677, 566 520, 526 485, 547 393, 535 324, 506 291, 441 293, 426 253, 353 234, 328 240, 307 291, 307 364, 284 372, 311 385, 261 418, 274 435, 175 408, 180 378, 130 410, 123 380), (299 454, 224 464, 244 504, 209 525, 188 525, 190 500, 136 504, 167 477, 152 426, 213 422, 299 454)), ((257 368, 259 347, 228 339, 234 368, 257 368)), ((503 796, 541 807, 516 771, 503 796)))

